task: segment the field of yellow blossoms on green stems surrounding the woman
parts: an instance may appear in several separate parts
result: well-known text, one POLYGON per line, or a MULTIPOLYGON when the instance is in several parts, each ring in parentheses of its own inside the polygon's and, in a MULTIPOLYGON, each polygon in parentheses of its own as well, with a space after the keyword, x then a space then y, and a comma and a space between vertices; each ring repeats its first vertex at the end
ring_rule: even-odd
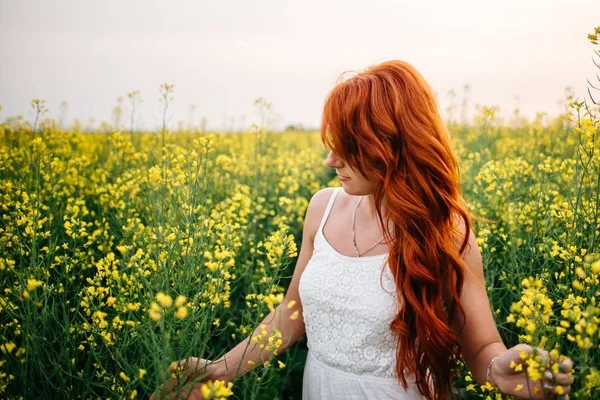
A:
MULTIPOLYGON (((39 103, 37 103, 39 105, 39 103)), ((600 119, 482 109, 449 124, 507 346, 570 357, 600 393, 600 119)), ((172 361, 216 359, 282 300, 312 194, 339 186, 317 132, 84 133, 0 125, 0 397, 147 398, 172 361)), ((299 399, 306 342, 206 398, 299 399)), ((531 364, 535 376, 535 362, 531 364)), ((464 398, 507 398, 456 379, 464 398)))

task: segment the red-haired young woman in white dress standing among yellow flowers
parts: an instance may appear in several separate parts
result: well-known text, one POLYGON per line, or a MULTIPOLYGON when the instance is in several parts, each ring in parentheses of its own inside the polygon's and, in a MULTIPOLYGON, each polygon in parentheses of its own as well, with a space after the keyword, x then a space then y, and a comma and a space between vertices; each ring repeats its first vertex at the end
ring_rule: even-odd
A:
MULTIPOLYGON (((521 398, 568 399, 570 359, 535 381, 513 368, 523 351, 549 354, 502 342, 458 160, 417 70, 389 61, 336 85, 321 135, 341 187, 312 197, 285 300, 252 335, 264 328, 268 337, 277 327, 281 354, 306 333, 302 398, 453 398, 462 356, 479 384, 521 398)), ((188 377, 232 381, 269 357, 249 340, 216 362, 179 365, 188 377)), ((188 385, 190 399, 202 398, 200 383, 188 385)))

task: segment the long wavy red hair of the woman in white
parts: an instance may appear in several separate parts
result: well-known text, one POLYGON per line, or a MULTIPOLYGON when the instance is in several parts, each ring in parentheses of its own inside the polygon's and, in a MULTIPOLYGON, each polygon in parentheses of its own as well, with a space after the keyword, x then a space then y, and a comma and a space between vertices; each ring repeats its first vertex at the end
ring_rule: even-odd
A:
POLYGON ((403 374, 408 371, 427 399, 454 398, 452 379, 461 352, 451 321, 456 312, 465 316, 461 255, 471 214, 462 197, 458 158, 431 88, 406 62, 372 66, 329 93, 321 139, 377 182, 378 219, 381 226, 389 226, 390 219, 394 226, 393 237, 387 231, 384 235, 400 305, 390 329, 398 334, 396 371, 402 386, 408 387, 403 374), (385 222, 382 202, 388 209, 385 222))

